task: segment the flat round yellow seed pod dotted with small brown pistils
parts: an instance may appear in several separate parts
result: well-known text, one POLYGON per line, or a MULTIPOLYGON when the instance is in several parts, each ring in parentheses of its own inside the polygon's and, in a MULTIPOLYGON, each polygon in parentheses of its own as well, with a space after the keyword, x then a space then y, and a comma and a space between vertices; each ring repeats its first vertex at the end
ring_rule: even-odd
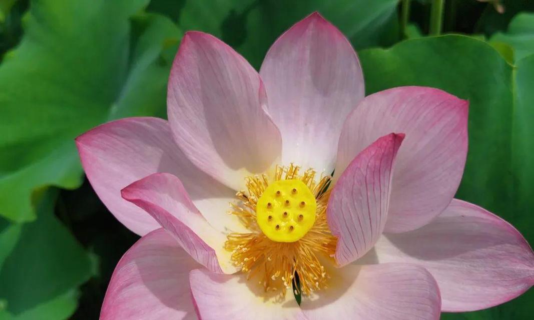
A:
POLYGON ((272 182, 256 204, 256 222, 276 242, 295 242, 315 223, 317 201, 297 179, 272 182))

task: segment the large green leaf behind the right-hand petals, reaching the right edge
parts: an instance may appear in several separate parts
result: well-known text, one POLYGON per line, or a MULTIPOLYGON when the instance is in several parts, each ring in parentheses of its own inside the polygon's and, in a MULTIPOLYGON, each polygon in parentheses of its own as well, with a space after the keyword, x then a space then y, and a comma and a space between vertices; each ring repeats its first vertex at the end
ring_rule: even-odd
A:
MULTIPOLYGON (((412 39, 359 53, 367 94, 431 86, 469 100, 469 152, 457 197, 511 222, 534 241, 534 56, 510 65, 492 46, 466 36, 412 39)), ((446 319, 527 319, 524 298, 446 319), (488 316, 491 315, 491 316, 488 316)))

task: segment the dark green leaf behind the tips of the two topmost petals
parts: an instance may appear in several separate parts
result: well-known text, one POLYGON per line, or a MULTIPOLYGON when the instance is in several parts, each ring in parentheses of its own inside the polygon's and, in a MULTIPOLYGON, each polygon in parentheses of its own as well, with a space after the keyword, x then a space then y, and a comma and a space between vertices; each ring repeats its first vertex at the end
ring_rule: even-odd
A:
POLYGON ((201 30, 221 38, 258 68, 271 44, 314 11, 340 28, 357 49, 391 45, 399 37, 397 3, 398 0, 205 0, 188 1, 185 5, 178 2, 171 12, 179 12, 178 25, 183 30, 201 30))

